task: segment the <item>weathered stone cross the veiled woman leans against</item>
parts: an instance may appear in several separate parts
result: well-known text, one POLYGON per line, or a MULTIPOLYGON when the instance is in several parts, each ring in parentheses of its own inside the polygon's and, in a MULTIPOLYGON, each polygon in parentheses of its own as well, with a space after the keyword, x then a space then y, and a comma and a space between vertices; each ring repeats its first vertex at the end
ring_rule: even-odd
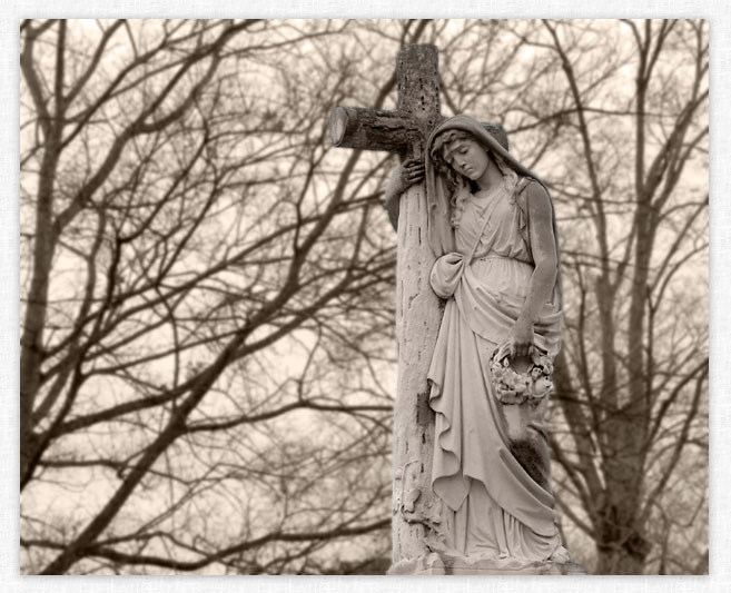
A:
MULTIPOLYGON (((396 110, 336 107, 329 119, 333 144, 424 158, 429 134, 444 119, 439 115, 437 56, 435 46, 402 49, 396 68, 396 110)), ((439 516, 431 486, 434 418, 426 375, 442 307, 428 283, 435 257, 427 243, 426 214, 425 184, 416 184, 401 199, 396 267, 398 386, 394 406, 392 572, 402 574, 428 554, 432 527, 439 516)))

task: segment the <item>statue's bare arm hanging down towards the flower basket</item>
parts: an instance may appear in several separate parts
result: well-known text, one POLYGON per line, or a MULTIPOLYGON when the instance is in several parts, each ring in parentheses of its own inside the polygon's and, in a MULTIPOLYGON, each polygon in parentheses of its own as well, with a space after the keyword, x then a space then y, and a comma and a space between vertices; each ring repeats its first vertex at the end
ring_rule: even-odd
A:
POLYGON ((529 218, 529 238, 535 269, 531 276, 523 308, 511 330, 511 356, 527 356, 533 346, 533 324, 553 296, 559 274, 559 254, 553 234, 551 198, 539 182, 525 189, 529 218))

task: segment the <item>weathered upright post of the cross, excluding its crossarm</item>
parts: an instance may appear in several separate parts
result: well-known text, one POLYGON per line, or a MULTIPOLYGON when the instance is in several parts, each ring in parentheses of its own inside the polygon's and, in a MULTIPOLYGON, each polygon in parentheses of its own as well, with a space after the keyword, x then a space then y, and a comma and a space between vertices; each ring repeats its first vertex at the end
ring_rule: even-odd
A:
MULTIPOLYGON (((423 144, 439 119, 437 51, 434 46, 409 46, 398 56, 398 110, 422 120, 423 144)), ((428 553, 436 537, 441 503, 432 492, 434 413, 428 406, 426 375, 442 320, 442 305, 428 284, 435 257, 426 239, 424 184, 401 198, 396 269, 396 334, 398 384, 394 405, 394 496, 406 493, 393 517, 394 563, 428 553)))

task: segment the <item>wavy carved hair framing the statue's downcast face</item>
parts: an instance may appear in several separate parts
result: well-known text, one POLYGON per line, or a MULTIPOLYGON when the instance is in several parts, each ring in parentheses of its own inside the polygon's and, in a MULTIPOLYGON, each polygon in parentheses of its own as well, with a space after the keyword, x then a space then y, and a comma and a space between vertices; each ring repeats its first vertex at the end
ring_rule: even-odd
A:
MULTIPOLYGON (((429 150, 429 157, 434 164, 434 168, 438 175, 442 175, 446 181, 447 191, 450 191, 451 198, 450 204, 452 206, 452 216, 450 217, 450 224, 454 228, 460 227, 460 221, 462 220, 462 214, 464 213, 464 202, 466 196, 463 191, 460 191, 462 187, 467 185, 471 191, 474 194, 477 190, 476 184, 463 175, 455 171, 452 166, 444 158, 444 150, 451 144, 456 142, 457 140, 473 140, 478 142, 478 140, 468 131, 465 130, 446 130, 434 138, 432 142, 432 149, 429 150)), ((515 186, 517 185, 517 174, 505 162, 505 160, 500 156, 490 150, 490 148, 481 145, 487 156, 495 161, 500 172, 503 174, 503 186, 510 192, 514 199, 515 186)))

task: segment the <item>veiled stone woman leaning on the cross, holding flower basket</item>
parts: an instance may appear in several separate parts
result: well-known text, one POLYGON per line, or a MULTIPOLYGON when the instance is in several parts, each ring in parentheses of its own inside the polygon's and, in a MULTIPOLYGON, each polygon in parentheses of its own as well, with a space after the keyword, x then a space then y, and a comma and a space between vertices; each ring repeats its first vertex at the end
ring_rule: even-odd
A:
POLYGON ((502 141, 470 117, 446 120, 387 205, 394 220, 401 191, 426 179, 431 284, 446 299, 428 373, 445 551, 563 563, 544 428, 561 340, 555 219, 502 141))

